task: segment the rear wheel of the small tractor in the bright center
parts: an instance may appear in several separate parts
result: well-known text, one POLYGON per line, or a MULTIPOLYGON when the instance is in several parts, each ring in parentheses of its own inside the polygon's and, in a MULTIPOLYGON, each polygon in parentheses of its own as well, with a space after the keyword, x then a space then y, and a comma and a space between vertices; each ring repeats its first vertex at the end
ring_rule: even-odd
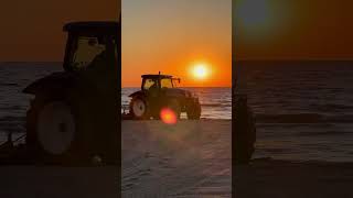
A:
POLYGON ((136 120, 149 119, 147 100, 143 97, 133 97, 130 102, 130 112, 136 120))

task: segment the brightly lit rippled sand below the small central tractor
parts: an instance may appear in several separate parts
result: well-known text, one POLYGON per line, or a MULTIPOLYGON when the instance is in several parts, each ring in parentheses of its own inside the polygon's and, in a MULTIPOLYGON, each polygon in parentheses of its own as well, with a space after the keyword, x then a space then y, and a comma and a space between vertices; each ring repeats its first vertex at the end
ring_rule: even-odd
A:
POLYGON ((231 197, 231 121, 122 121, 122 197, 231 197))

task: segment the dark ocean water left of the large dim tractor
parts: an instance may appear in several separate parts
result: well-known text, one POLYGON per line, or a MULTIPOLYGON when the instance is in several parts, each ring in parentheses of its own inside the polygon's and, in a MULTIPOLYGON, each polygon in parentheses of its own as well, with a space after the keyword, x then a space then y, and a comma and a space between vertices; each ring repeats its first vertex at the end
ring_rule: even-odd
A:
POLYGON ((22 90, 38 78, 61 70, 58 63, 0 63, 0 143, 7 133, 24 133, 29 95, 22 90))

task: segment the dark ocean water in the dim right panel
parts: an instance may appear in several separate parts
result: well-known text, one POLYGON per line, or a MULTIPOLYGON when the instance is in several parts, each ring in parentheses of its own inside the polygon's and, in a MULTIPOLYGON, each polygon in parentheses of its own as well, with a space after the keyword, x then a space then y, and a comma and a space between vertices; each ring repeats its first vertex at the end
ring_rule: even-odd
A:
POLYGON ((239 62, 256 157, 353 161, 353 62, 239 62))

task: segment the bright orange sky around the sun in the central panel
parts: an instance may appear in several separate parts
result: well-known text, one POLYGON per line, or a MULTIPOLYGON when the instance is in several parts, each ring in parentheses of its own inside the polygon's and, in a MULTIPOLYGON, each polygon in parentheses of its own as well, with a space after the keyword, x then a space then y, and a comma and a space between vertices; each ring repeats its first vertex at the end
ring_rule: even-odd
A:
POLYGON ((232 81, 232 0, 122 0, 122 87, 142 74, 170 74, 186 87, 228 87, 232 81), (190 75, 210 65, 207 79, 190 75))

